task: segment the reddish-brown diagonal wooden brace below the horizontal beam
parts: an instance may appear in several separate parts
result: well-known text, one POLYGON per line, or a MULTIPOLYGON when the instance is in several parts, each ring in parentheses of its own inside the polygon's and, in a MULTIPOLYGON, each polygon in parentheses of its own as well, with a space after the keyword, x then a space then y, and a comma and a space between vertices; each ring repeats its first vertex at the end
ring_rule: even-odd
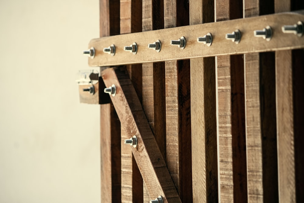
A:
POLYGON ((108 68, 101 75, 106 87, 116 86, 116 95, 110 98, 124 131, 129 137, 137 137, 137 147, 130 146, 130 150, 150 197, 181 202, 126 68, 108 68))

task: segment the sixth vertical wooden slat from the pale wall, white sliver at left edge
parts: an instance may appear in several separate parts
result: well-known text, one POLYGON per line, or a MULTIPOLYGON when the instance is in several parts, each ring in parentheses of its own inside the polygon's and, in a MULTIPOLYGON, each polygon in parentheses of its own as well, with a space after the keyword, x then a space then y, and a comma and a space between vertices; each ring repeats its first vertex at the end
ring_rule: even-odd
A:
MULTIPOLYGON (((215 2, 216 21, 243 16, 241 1, 215 2)), ((216 57, 216 63, 219 198, 247 202, 244 61, 241 55, 232 55, 216 57)))

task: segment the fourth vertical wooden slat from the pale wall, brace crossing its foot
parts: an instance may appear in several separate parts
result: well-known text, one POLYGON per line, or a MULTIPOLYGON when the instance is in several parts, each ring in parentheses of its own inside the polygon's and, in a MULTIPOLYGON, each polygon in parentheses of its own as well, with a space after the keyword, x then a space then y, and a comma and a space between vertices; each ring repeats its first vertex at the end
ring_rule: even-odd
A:
MULTIPOLYGON (((164 0, 164 28, 188 24, 188 2, 164 0)), ((167 166, 182 202, 192 202, 189 71, 189 60, 165 62, 167 166)))

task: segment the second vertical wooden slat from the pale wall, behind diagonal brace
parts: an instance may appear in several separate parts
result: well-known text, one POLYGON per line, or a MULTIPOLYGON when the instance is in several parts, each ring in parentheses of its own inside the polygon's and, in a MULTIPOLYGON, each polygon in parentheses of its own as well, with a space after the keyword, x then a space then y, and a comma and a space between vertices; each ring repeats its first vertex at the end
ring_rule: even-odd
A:
MULTIPOLYGON (((142 2, 138 0, 120 0, 120 34, 141 32, 142 2)), ((126 44, 124 46, 129 46, 126 44)), ((130 53, 131 54, 131 53, 130 53)), ((132 57, 130 55, 130 57, 132 57)), ((142 100, 141 64, 127 66, 137 96, 142 100)), ((122 142, 126 139, 122 133, 122 142)), ((129 139, 129 138, 128 138, 129 139)), ((122 156, 122 202, 143 202, 143 179, 130 150, 123 144, 122 156)))

